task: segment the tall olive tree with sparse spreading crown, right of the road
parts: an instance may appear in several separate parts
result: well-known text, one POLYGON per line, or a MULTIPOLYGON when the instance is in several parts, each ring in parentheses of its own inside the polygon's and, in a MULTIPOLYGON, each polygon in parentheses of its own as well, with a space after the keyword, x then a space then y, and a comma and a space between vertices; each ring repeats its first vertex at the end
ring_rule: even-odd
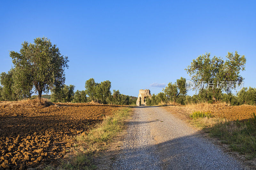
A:
MULTIPOLYGON (((221 57, 211 57, 210 53, 205 53, 194 59, 185 70, 197 87, 200 86, 199 82, 204 82, 209 87, 207 92, 211 94, 212 100, 216 101, 220 99, 222 91, 228 93, 234 89, 234 86, 228 85, 229 82, 237 82, 238 85, 242 83, 244 78, 240 71, 245 70, 245 63, 245 56, 239 55, 237 51, 235 54, 228 52, 225 61, 221 57), (223 88, 218 88, 220 82, 223 88)), ((203 88, 201 86, 199 91, 203 88)))

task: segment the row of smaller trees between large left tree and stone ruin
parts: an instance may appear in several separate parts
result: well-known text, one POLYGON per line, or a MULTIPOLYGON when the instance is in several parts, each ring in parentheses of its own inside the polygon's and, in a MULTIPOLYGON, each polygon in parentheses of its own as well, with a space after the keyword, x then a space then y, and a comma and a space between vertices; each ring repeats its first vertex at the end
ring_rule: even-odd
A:
POLYGON ((52 102, 73 102, 85 103, 94 101, 103 104, 131 105, 136 104, 137 98, 121 94, 119 90, 110 91, 111 82, 109 80, 96 83, 93 78, 85 82, 85 90, 74 92, 74 85, 64 85, 60 89, 52 89, 52 102))

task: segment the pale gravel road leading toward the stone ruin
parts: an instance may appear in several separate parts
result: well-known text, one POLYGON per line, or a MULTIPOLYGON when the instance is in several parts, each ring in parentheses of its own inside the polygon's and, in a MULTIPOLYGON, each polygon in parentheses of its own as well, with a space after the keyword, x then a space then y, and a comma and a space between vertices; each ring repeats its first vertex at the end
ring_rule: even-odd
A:
POLYGON ((113 169, 244 169, 162 107, 136 107, 113 169))

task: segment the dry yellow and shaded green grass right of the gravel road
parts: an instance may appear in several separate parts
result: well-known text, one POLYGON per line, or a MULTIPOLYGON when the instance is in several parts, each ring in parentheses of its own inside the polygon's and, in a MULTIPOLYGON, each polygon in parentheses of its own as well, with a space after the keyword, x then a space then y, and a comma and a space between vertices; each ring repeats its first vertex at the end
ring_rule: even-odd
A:
MULTIPOLYGON (((252 106, 236 106, 238 109, 252 106)), ((219 104, 189 104, 185 106, 174 105, 165 107, 171 113, 188 120, 190 124, 198 130, 209 134, 210 137, 217 137, 224 144, 228 144, 230 149, 244 154, 247 160, 256 159, 256 116, 252 111, 251 117, 246 119, 229 119, 228 116, 216 115, 223 112, 225 115, 230 107, 226 103, 219 104)), ((234 108, 233 108, 234 109, 234 108)), ((237 111, 239 113, 239 111, 237 111)), ((227 114, 228 115, 228 114, 227 114)))

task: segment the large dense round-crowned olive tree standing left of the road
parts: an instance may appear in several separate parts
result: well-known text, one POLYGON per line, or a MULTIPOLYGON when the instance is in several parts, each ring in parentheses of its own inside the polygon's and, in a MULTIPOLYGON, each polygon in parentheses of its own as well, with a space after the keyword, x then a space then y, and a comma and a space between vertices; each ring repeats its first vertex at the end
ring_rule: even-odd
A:
POLYGON ((14 91, 20 89, 42 92, 60 87, 65 82, 65 68, 68 68, 68 57, 60 54, 56 44, 46 37, 34 39, 34 43, 24 41, 20 52, 11 51, 12 63, 15 67, 14 91))

